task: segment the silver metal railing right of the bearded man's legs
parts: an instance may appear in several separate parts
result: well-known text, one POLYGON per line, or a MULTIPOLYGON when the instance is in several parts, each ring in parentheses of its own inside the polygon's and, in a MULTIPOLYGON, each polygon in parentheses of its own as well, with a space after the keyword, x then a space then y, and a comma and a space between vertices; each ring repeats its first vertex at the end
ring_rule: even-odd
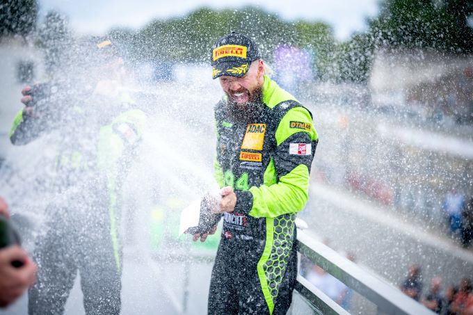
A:
MULTIPOLYGON (((415 300, 408 298, 399 289, 367 273, 352 261, 316 241, 303 230, 298 229, 297 233, 298 252, 374 303, 378 314, 434 314, 415 300)), ((297 277, 296 291, 316 313, 348 314, 301 275, 297 277)))

